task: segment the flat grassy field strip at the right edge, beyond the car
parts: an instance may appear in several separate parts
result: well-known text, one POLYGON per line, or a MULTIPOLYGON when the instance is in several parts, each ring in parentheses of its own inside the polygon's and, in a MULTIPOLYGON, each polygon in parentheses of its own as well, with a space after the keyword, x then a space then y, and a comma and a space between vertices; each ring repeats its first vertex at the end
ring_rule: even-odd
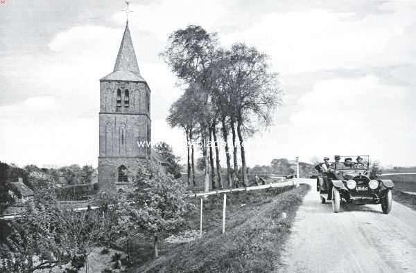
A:
POLYGON ((393 188, 393 200, 416 210, 416 195, 407 194, 405 192, 416 192, 415 174, 381 176, 381 179, 391 179, 395 183, 395 187, 393 188))

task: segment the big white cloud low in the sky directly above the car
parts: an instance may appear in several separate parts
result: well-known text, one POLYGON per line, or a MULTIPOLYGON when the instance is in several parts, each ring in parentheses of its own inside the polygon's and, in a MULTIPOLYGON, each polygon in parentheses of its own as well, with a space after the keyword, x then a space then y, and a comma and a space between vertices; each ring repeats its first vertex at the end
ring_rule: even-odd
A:
POLYGON ((408 108, 415 99, 410 89, 374 76, 317 82, 291 116, 293 142, 309 156, 360 153, 406 164, 416 149, 415 111, 408 108))

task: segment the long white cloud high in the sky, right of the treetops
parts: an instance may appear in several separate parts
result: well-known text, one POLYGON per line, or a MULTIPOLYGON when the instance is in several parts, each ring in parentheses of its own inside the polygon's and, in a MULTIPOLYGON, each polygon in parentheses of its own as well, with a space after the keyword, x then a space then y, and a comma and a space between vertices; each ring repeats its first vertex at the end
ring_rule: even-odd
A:
POLYGON ((401 35, 410 23, 390 14, 345 21, 351 15, 325 10, 269 13, 250 28, 221 39, 227 44, 241 40, 257 46, 270 55, 276 70, 287 75, 379 66, 389 39, 401 35))

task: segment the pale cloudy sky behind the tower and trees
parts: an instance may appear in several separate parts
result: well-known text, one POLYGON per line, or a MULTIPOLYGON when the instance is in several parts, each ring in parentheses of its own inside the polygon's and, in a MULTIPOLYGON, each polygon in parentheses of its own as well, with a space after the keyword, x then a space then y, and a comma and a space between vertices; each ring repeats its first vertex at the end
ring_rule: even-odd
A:
MULTIPOLYGON (((112 72, 124 8, 121 0, 0 4, 2 162, 97 165, 99 79, 112 72)), ((184 133, 166 124, 183 90, 159 53, 171 32, 198 24, 225 47, 255 46, 279 73, 282 104, 272 126, 245 143, 249 166, 335 154, 416 165, 416 1, 132 0, 130 10, 153 142, 173 145, 183 162, 184 133)))

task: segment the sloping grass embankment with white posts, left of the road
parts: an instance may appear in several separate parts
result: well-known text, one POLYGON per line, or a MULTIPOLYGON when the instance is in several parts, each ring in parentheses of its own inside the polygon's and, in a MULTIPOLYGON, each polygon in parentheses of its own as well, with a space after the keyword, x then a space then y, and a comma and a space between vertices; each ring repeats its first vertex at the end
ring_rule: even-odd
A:
MULTIPOLYGON (((309 189, 301 185, 227 195, 225 234, 221 234, 222 196, 211 196, 205 201, 202 238, 131 272, 270 272, 309 189)), ((199 227, 199 214, 190 221, 191 227, 199 227)))

